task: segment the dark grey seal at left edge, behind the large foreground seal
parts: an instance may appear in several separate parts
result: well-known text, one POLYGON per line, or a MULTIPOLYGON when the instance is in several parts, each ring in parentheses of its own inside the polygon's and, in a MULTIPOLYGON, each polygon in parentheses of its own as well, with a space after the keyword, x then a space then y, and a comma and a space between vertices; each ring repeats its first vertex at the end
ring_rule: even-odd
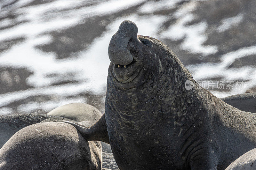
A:
POLYGON ((22 128, 53 117, 45 114, 19 114, 0 116, 0 148, 22 128))

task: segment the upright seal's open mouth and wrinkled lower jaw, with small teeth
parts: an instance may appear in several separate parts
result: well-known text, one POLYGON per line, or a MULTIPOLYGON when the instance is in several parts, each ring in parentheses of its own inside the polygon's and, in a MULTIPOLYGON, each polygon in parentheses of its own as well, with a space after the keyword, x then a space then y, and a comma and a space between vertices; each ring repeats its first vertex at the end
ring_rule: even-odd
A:
POLYGON ((121 83, 129 83, 134 80, 138 74, 140 73, 140 63, 135 61, 134 58, 132 63, 127 65, 121 64, 113 64, 112 63, 112 73, 116 80, 120 81, 121 83))

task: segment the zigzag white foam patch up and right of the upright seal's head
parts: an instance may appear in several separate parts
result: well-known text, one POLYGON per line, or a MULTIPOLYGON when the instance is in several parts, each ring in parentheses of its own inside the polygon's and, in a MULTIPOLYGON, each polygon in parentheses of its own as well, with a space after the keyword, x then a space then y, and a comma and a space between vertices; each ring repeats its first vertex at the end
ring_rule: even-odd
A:
POLYGON ((196 9, 196 2, 191 2, 185 6, 181 6, 174 14, 177 21, 169 27, 169 29, 161 33, 162 37, 177 41, 184 39, 181 48, 188 50, 190 53, 202 54, 204 56, 217 52, 217 46, 205 46, 204 41, 207 40, 205 30, 207 23, 202 21, 198 24, 187 25, 195 19, 192 12, 196 9))

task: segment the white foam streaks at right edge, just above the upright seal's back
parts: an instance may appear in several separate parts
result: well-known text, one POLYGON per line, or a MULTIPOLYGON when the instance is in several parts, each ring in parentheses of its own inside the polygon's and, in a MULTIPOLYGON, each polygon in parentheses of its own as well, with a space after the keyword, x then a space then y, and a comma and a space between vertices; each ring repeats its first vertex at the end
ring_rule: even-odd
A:
POLYGON ((244 80, 243 89, 233 89, 229 92, 217 92, 212 91, 217 97, 226 97, 228 95, 234 95, 244 93, 246 89, 254 87, 256 85, 256 68, 250 66, 244 66, 240 68, 228 68, 236 59, 256 54, 256 46, 240 48, 236 51, 229 52, 221 56, 220 63, 202 63, 191 64, 187 68, 192 72, 193 77, 196 80, 208 79, 208 78, 222 78, 222 80, 235 81, 244 80))

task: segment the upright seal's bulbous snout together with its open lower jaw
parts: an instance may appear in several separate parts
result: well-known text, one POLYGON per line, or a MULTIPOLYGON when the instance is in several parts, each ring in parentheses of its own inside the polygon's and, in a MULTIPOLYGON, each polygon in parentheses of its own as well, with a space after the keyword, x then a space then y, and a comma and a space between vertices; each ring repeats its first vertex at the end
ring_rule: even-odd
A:
POLYGON ((121 83, 131 82, 142 70, 142 64, 135 57, 135 44, 140 43, 137 33, 138 27, 132 21, 123 21, 108 45, 111 72, 121 83))

